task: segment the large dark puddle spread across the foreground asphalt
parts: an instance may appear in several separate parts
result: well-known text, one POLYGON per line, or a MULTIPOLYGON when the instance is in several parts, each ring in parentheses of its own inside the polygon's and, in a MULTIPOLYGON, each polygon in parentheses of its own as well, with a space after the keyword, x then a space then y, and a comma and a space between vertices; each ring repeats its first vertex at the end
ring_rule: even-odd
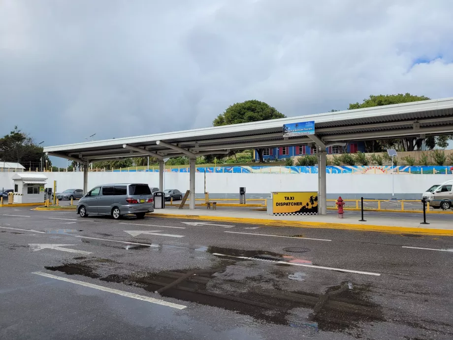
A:
MULTIPOLYGON (((214 246, 201 246, 195 250, 231 256, 288 259, 288 256, 282 254, 260 250, 239 250, 214 246)), ((303 287, 305 283, 302 282, 306 278, 304 272, 279 276, 270 271, 267 276, 247 276, 246 279, 241 280, 230 280, 221 275, 229 266, 233 266, 233 271, 234 266, 241 266, 241 259, 219 258, 216 265, 204 270, 137 272, 126 275, 115 273, 118 272, 118 269, 112 267, 110 264, 112 260, 100 258, 86 260, 84 257, 78 259, 85 261, 45 268, 69 275, 78 274, 106 282, 136 286, 152 293, 160 291, 161 296, 231 310, 266 323, 306 328, 311 333, 322 330, 354 335, 360 332, 363 324, 385 321, 381 307, 370 301, 371 289, 368 286, 343 282, 341 285, 328 287, 324 294, 316 294, 303 290, 287 291, 281 288, 280 283, 284 285, 285 280, 300 281, 301 287, 303 287), (109 262, 109 264, 104 266, 102 262, 109 262), (102 266, 103 273, 106 270, 113 273, 101 275, 97 272, 98 266, 102 266), (170 285, 178 279, 180 279, 178 284, 170 285), (252 283, 261 282, 260 280, 275 281, 278 284, 263 288, 259 284, 252 283), (231 285, 237 289, 231 290, 229 288, 231 285), (306 316, 298 317, 293 314, 293 310, 297 310, 296 308, 308 308, 312 310, 312 313, 308 315, 308 318, 306 316), (291 321, 289 321, 290 319, 291 321)))

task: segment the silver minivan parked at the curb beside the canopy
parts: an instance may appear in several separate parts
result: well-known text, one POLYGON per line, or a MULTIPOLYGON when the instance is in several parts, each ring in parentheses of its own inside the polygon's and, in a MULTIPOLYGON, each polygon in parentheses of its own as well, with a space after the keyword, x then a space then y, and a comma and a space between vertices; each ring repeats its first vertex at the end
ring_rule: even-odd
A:
POLYGON ((110 215, 119 219, 126 214, 144 218, 153 212, 153 195, 148 184, 121 183, 104 184, 91 189, 77 204, 80 217, 88 215, 110 215))

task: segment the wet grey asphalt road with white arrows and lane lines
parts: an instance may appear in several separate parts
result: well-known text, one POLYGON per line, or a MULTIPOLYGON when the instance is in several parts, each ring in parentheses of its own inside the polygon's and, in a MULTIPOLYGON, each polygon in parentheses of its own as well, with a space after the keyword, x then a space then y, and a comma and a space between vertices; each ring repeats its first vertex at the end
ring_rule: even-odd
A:
POLYGON ((453 338, 453 238, 202 222, 0 208, 0 339, 453 338))

